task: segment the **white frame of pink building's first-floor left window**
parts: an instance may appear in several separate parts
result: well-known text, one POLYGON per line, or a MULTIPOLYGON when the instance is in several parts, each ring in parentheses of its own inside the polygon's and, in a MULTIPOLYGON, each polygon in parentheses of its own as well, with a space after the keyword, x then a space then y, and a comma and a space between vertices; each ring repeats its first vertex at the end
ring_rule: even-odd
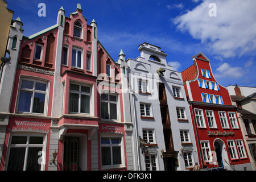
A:
POLYGON ((49 96, 49 91, 48 90, 49 90, 49 82, 47 80, 39 80, 37 78, 27 78, 27 77, 20 78, 18 97, 17 97, 17 101, 16 101, 16 113, 46 115, 47 114, 47 110, 48 110, 48 96, 49 96), (22 88, 22 81, 23 80, 33 82, 33 88, 32 89, 22 88), (46 91, 35 90, 36 82, 41 83, 41 84, 46 84, 46 91), (31 101, 30 101, 30 111, 29 112, 19 111, 20 90, 22 90, 23 92, 31 92, 32 93, 31 101), (34 98, 35 98, 34 95, 35 95, 35 93, 45 94, 45 98, 44 98, 44 111, 43 111, 43 113, 34 113, 33 112, 34 98))

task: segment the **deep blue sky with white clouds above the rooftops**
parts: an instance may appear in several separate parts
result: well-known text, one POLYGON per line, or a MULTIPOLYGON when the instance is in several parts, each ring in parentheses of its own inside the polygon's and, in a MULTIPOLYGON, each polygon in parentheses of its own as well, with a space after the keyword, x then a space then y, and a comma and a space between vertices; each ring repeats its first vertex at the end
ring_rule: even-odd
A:
POLYGON ((61 6, 69 16, 80 3, 88 24, 96 20, 98 39, 115 61, 121 49, 126 59, 136 59, 139 44, 147 42, 162 47, 179 72, 203 52, 222 86, 256 86, 255 0, 6 1, 13 19, 22 20, 24 36, 56 24, 61 6), (45 17, 38 16, 39 3, 46 4, 45 17))

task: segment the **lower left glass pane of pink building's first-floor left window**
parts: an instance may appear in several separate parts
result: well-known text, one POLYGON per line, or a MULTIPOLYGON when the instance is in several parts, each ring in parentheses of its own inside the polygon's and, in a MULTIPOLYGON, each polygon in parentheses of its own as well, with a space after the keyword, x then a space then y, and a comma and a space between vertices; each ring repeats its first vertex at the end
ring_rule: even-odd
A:
POLYGON ((18 111, 20 112, 30 112, 30 104, 31 104, 31 92, 22 92, 19 93, 19 106, 18 111))

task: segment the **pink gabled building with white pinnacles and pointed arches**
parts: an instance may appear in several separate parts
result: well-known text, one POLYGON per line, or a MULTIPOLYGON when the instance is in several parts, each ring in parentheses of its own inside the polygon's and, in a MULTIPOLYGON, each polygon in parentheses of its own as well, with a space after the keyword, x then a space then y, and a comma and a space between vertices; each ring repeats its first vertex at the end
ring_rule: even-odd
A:
POLYGON ((121 65, 80 4, 68 17, 63 7, 57 13, 54 26, 28 37, 19 18, 11 25, 0 82, 0 170, 133 169, 121 65))

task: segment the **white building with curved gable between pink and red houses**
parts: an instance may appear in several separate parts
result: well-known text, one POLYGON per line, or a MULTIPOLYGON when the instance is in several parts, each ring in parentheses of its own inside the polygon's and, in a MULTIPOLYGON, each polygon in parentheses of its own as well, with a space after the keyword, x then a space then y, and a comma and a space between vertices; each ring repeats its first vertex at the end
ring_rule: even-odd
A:
POLYGON ((199 159, 181 73, 167 65, 160 47, 143 43, 139 51, 137 59, 121 61, 129 72, 135 169, 192 169, 199 159))

